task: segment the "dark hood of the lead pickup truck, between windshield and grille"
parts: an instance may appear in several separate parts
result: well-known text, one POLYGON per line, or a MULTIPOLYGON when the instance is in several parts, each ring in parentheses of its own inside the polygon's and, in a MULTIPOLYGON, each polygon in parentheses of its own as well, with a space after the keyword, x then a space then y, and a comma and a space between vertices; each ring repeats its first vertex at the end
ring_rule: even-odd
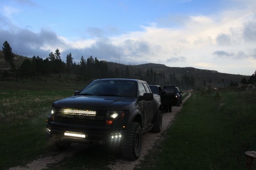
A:
POLYGON ((119 96, 71 96, 53 102, 52 106, 88 110, 129 110, 129 106, 136 100, 119 96))

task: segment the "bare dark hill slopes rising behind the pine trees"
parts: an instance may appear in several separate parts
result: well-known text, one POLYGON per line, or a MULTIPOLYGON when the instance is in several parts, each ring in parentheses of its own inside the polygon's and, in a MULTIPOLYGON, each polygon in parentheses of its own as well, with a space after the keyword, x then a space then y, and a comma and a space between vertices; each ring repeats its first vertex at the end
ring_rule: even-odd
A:
MULTIPOLYGON (((15 54, 14 63, 16 68, 20 68, 20 65, 25 59, 31 59, 29 57, 23 57, 20 55, 15 54)), ((105 61, 107 62, 107 61, 105 61)), ((120 72, 125 72, 125 68, 127 65, 118 64, 115 62, 107 62, 108 68, 111 71, 114 71, 115 68, 118 68, 120 72)), ((4 68, 10 68, 9 63, 6 63, 3 52, 0 51, 0 69, 3 70, 4 68)), ((246 78, 249 79, 250 76, 244 76, 244 75, 237 75, 237 74, 225 74, 225 73, 219 73, 218 71, 213 70, 204 70, 204 69, 198 69, 198 68, 192 68, 192 67, 168 67, 163 64, 154 64, 154 63, 147 63, 147 64, 141 64, 141 65, 128 65, 129 71, 131 73, 131 78, 134 77, 136 73, 141 71, 142 75, 145 75, 146 71, 148 69, 153 69, 153 71, 164 72, 166 76, 166 82, 167 84, 159 84, 159 85, 169 85, 169 76, 170 74, 173 75, 175 73, 175 77, 180 81, 183 75, 193 77, 195 80, 193 87, 187 87, 187 88, 202 88, 202 87, 227 87, 230 85, 230 82, 241 82, 241 79, 246 78)), ((1 71, 3 72, 3 71, 1 71)))

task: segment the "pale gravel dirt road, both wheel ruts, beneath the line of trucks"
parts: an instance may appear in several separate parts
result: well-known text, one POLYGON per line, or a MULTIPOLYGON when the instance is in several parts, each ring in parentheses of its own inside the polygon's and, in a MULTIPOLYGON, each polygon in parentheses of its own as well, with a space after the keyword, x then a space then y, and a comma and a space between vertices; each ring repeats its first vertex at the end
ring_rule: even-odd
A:
MULTIPOLYGON (((186 96, 185 99, 183 99, 183 103, 186 102, 186 100, 190 96, 191 94, 189 93, 189 95, 186 96)), ((132 170, 136 164, 140 163, 140 160, 143 159, 143 157, 148 153, 148 151, 152 149, 154 143, 161 139, 161 133, 163 133, 172 124, 175 114, 178 113, 181 108, 182 105, 180 105, 179 107, 175 106, 172 108, 171 113, 163 114, 162 131, 160 133, 149 132, 143 135, 143 147, 139 159, 137 159, 136 161, 127 161, 122 158, 117 158, 115 164, 112 164, 109 167, 112 170, 132 170)), ((61 153, 52 152, 49 153, 49 156, 41 156, 41 158, 36 159, 29 164, 26 164, 25 167, 12 167, 9 168, 9 170, 41 170, 47 168, 47 165, 57 163, 67 157, 72 157, 80 150, 83 150, 85 147, 87 147, 87 145, 79 145, 79 147, 77 145, 78 144, 72 144, 67 150, 61 153)))

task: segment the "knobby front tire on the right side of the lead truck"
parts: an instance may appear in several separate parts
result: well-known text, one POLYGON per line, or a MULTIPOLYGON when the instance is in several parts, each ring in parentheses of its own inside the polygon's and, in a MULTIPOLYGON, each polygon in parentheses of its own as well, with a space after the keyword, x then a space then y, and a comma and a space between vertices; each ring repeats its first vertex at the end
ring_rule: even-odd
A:
POLYGON ((142 129, 138 122, 132 122, 126 139, 122 141, 121 153, 125 159, 136 160, 140 157, 142 148, 142 129))

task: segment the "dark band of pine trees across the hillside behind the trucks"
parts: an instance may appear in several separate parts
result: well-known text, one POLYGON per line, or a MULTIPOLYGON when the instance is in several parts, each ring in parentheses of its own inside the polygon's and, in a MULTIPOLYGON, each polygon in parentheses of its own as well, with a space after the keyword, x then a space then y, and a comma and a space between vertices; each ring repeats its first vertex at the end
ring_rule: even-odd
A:
MULTIPOLYGON (((3 71, 2 80, 11 80, 19 78, 47 77, 51 74, 73 74, 76 81, 90 82, 93 79, 101 78, 126 78, 141 79, 154 85, 176 85, 180 88, 204 88, 207 86, 203 80, 203 87, 195 87, 195 77, 192 74, 182 74, 178 79, 175 72, 168 75, 164 71, 155 71, 153 68, 146 70, 138 69, 131 71, 129 65, 123 65, 121 68, 110 68, 108 62, 99 61, 92 56, 81 59, 78 63, 73 62, 72 54, 67 54, 66 61, 61 60, 61 52, 56 49, 50 52, 46 59, 39 56, 25 59, 19 68, 14 64, 14 54, 12 48, 7 41, 3 43, 3 57, 6 63, 9 63, 11 70, 3 71)), ((209 80, 211 81, 211 79, 209 80)), ((241 80, 243 84, 256 83, 256 72, 248 79, 241 80)), ((211 82, 210 82, 211 83, 211 82)), ((230 86, 236 86, 240 82, 230 81, 230 86)))

